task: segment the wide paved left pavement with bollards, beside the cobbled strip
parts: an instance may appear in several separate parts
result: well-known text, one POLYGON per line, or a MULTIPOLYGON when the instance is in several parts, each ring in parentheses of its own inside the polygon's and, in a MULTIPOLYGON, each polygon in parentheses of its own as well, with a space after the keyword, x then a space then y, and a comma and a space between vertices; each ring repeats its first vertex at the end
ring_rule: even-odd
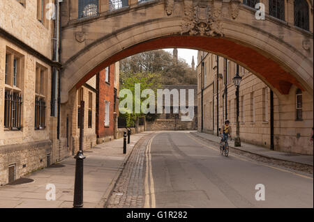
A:
MULTIPOLYGON (((84 207, 103 207, 134 145, 150 133, 131 135, 127 154, 123 154, 123 138, 84 152, 84 207)), ((73 207, 75 159, 68 157, 56 166, 24 176, 33 182, 0 187, 0 207, 73 207), (46 200, 47 184, 55 185, 56 200, 46 200)))

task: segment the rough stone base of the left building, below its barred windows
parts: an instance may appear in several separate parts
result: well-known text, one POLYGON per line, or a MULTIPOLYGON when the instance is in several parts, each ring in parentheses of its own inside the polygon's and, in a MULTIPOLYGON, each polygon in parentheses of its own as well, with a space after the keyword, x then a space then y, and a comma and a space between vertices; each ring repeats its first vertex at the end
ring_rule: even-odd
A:
POLYGON ((52 159, 50 140, 0 146, 0 185, 8 183, 8 167, 15 165, 15 180, 27 173, 47 166, 47 155, 52 159))

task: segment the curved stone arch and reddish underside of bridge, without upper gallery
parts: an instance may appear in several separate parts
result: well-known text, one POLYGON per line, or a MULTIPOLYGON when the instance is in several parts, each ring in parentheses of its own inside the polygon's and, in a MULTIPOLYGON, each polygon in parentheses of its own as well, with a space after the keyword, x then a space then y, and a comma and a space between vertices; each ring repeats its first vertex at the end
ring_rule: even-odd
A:
MULTIPOLYGON (((187 16, 186 11, 179 11, 176 15, 170 10, 174 6, 166 5, 165 15, 159 18, 139 19, 139 22, 105 34, 89 44, 85 37, 79 38, 85 41, 84 45, 73 50, 75 54, 66 54, 64 61, 61 102, 68 100, 68 92, 72 88, 80 87, 107 65, 142 51, 167 47, 199 49, 224 56, 257 75, 275 93, 286 95, 290 87, 295 85, 313 95, 311 34, 288 29, 271 19, 260 24, 260 21, 254 21, 254 13, 248 8, 236 4, 236 9, 233 10, 232 4, 237 1, 230 2, 225 6, 231 10, 227 15, 229 17, 223 17, 220 12, 215 19, 215 11, 209 16, 209 11, 202 7, 190 8, 188 13, 194 13, 194 17, 187 16), (208 16, 213 17, 214 22, 207 19, 208 16), (248 22, 243 17, 249 17, 253 22, 248 22), (190 22, 194 22, 192 26, 190 22), (308 42, 306 47, 302 40, 308 42)), ((151 7, 160 10, 160 3, 151 7)), ((149 9, 154 11, 154 8, 149 9)), ((124 16, 117 15, 117 19, 124 16)), ((79 26, 82 25, 85 35, 88 35, 86 31, 90 26, 102 22, 104 21, 96 20, 80 23, 79 26)), ((73 29, 77 30, 79 26, 71 27, 66 32, 75 33, 73 29)))

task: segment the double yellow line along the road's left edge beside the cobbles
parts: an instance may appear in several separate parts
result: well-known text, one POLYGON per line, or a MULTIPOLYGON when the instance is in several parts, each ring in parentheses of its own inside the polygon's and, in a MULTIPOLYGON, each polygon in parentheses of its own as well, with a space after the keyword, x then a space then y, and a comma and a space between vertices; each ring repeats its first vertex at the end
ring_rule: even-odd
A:
POLYGON ((147 149, 145 151, 146 156, 146 172, 145 172, 145 208, 156 208, 156 198, 155 198, 155 189, 154 189, 154 178, 153 171, 151 168, 151 142, 154 137, 151 137, 149 143, 147 144, 147 149))

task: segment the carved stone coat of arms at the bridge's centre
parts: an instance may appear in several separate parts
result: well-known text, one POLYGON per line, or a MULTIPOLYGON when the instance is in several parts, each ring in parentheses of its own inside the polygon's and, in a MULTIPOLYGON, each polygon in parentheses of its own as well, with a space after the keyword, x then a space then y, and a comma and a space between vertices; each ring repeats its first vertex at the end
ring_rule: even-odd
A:
POLYGON ((193 13, 184 18, 181 34, 223 36, 220 22, 211 13, 209 6, 195 6, 193 13))

